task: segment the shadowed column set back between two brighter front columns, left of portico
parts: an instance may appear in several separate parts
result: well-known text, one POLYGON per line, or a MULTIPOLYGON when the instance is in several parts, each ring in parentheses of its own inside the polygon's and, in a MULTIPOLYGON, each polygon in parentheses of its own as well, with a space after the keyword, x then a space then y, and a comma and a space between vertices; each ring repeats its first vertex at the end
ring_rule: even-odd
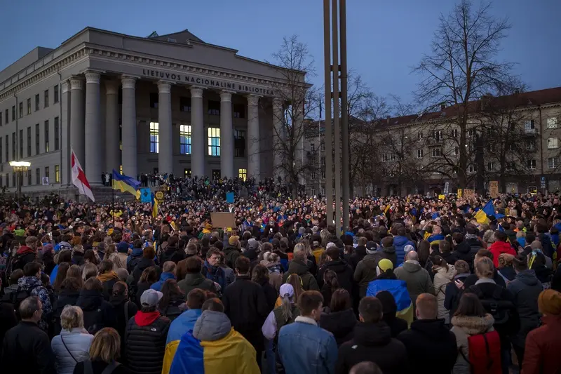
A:
MULTIPOLYGON (((119 171, 121 151, 119 150, 119 82, 105 82, 105 147, 107 149, 105 171, 119 171)), ((136 177, 135 177, 136 178, 136 177)))

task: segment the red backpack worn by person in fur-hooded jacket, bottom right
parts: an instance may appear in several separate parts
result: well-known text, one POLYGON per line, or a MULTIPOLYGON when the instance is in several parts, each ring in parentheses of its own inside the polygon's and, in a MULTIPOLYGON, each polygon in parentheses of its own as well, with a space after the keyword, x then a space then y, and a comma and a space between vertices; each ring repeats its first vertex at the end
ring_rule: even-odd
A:
POLYGON ((468 351, 469 357, 460 353, 469 363, 471 374, 501 373, 501 338, 496 330, 469 336, 468 351))

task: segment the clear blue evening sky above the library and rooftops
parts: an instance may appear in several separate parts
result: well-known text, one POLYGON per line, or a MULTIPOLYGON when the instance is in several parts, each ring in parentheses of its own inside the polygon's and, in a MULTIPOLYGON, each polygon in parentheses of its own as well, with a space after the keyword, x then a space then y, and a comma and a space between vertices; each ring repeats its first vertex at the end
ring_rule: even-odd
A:
MULTIPOLYGON (((208 43, 271 60, 283 36, 299 35, 323 82, 321 0, 0 0, 0 69, 35 46, 55 48, 86 26, 147 36, 189 29, 208 43)), ((379 95, 411 100, 411 67, 430 50, 440 13, 452 0, 348 0, 349 67, 379 95)), ((513 25, 499 54, 532 89, 561 86, 560 0, 495 0, 493 13, 513 25)))

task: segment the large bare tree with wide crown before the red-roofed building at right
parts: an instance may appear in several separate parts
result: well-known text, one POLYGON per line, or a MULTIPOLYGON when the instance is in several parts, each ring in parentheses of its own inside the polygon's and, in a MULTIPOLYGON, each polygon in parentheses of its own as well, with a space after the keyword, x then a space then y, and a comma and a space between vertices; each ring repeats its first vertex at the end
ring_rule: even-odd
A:
POLYGON ((442 156, 428 169, 457 179, 460 188, 472 178, 468 165, 475 149, 468 138, 468 119, 477 108, 471 102, 501 88, 510 80, 513 66, 496 60, 510 25, 506 19, 493 18, 489 8, 489 4, 475 8, 472 1, 461 0, 450 15, 441 15, 431 53, 414 68, 424 76, 416 96, 426 112, 434 112, 440 105, 450 107, 442 112, 445 118, 428 124, 431 135, 442 131, 433 137, 442 142, 442 149, 434 151, 442 156))

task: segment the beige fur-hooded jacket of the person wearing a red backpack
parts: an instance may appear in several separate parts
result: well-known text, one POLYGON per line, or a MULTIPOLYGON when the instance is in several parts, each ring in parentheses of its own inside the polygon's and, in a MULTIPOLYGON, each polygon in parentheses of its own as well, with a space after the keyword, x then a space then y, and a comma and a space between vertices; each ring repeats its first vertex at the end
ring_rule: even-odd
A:
POLYGON ((464 357, 469 357, 468 338, 472 335, 488 333, 493 330, 493 316, 486 314, 479 316, 454 316, 452 317, 452 333, 456 336, 458 354, 454 364, 454 374, 471 374, 470 364, 464 357))

